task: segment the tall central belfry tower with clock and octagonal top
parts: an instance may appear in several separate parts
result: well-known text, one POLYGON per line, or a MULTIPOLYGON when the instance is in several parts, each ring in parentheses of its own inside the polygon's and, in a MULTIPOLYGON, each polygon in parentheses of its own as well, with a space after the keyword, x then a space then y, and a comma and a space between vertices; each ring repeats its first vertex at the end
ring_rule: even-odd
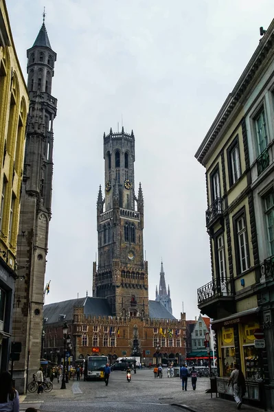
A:
POLYGON ((93 296, 106 297, 116 316, 148 316, 148 262, 144 261, 144 198, 135 192, 135 136, 104 134, 104 192, 97 201, 98 267, 93 296), (135 205, 137 207, 135 207, 135 205))

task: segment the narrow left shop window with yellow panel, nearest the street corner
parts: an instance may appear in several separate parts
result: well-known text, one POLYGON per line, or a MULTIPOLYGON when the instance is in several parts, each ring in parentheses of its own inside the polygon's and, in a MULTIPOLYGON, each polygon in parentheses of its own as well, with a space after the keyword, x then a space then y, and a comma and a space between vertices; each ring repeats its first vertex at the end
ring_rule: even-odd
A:
POLYGON ((222 328, 222 376, 230 376, 236 362, 233 328, 222 328))

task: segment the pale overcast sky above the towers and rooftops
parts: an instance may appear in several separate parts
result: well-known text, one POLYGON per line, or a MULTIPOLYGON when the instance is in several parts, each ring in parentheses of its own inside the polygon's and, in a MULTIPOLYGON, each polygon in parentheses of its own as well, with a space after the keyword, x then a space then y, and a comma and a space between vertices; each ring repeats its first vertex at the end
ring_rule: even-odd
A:
MULTIPOLYGON (((194 154, 273 19, 273 0, 6 0, 23 73, 43 21, 57 53, 46 303, 91 296, 103 133, 135 133, 149 297, 161 258, 172 308, 211 280, 205 169, 194 154)), ((183 306, 182 306, 183 302, 183 306)))

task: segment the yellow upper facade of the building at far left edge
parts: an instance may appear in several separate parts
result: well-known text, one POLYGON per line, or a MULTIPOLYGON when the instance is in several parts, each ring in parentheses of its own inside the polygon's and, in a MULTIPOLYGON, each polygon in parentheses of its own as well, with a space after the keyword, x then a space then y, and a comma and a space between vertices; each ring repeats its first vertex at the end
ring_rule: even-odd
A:
POLYGON ((0 45, 0 250, 14 268, 29 96, 3 0, 0 9, 10 41, 0 45))

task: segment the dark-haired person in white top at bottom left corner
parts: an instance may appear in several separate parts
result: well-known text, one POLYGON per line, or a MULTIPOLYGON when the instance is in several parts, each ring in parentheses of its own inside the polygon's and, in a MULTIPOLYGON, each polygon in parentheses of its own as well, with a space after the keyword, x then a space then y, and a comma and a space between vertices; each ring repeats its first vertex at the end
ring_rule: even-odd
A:
POLYGON ((0 411, 19 412, 19 394, 13 387, 8 371, 0 374, 0 411))

